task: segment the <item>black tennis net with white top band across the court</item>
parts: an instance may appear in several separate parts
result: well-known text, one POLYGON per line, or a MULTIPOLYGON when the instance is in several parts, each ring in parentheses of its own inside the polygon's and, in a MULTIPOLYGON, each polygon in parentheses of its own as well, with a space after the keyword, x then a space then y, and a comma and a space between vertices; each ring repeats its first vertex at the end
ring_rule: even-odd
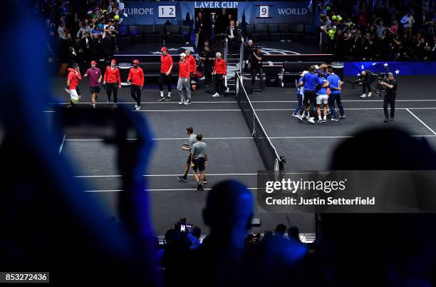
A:
POLYGON ((271 139, 266 134, 264 127, 262 126, 259 117, 254 111, 251 100, 244 88, 244 83, 239 72, 236 72, 236 87, 235 95, 239 104, 239 108, 242 110, 242 114, 249 125, 251 135, 256 142, 259 153, 264 161, 266 169, 269 171, 275 171, 276 177, 284 172, 285 158, 279 156, 276 147, 271 142, 271 139))

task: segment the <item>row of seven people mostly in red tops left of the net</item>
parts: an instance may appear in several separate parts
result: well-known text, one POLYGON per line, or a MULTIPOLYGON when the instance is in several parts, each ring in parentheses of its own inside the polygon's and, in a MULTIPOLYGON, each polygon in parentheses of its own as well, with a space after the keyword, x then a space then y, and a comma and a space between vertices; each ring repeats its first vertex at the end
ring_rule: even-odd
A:
MULTIPOLYGON (((162 47, 160 49, 162 53, 160 56, 160 75, 159 75, 159 101, 171 100, 171 73, 174 63, 172 56, 167 53, 167 48, 162 47), (167 96, 164 95, 163 85, 167 85, 167 96)), ((133 67, 130 68, 127 83, 130 85, 130 95, 135 100, 135 110, 141 109, 141 90, 144 88, 144 71, 139 66, 139 61, 133 61, 133 67)), ((102 80, 102 73, 99 68, 96 67, 97 63, 91 61, 91 68, 85 73, 85 77, 89 78, 89 86, 91 93, 91 105, 95 108, 95 103, 100 93, 100 83, 102 80)), ((214 59, 214 70, 212 75, 215 75, 215 93, 212 97, 218 97, 220 94, 228 91, 224 85, 224 78, 227 74, 227 63, 221 57, 221 53, 217 53, 214 59)), ((191 85, 192 78, 197 75, 197 63, 194 56, 191 55, 189 50, 180 54, 179 61, 179 78, 177 80, 177 91, 180 95, 179 105, 190 105, 192 103, 191 89, 195 86, 191 85)), ((78 89, 78 83, 82 80, 81 72, 77 63, 73 64, 73 68, 68 69, 67 87, 66 91, 71 96, 70 104, 68 108, 72 108, 78 103, 81 98, 81 93, 78 89)), ((105 68, 103 75, 103 88, 108 95, 107 104, 111 103, 111 96, 113 94, 113 107, 117 107, 118 103, 118 89, 121 88, 120 70, 116 67, 116 61, 113 59, 110 61, 110 65, 105 68)))

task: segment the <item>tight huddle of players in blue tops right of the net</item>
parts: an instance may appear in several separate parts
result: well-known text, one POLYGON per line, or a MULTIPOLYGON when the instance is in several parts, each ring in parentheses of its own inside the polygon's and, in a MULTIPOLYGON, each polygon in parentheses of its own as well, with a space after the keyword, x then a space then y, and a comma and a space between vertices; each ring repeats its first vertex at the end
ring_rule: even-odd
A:
POLYGON ((337 122, 339 118, 345 119, 346 115, 341 103, 341 86, 343 82, 338 75, 333 73, 326 64, 321 66, 310 66, 308 71, 301 73, 299 80, 296 80, 297 100, 294 117, 300 122, 307 119, 314 124, 315 117, 311 116, 316 108, 318 122, 327 122, 328 110, 331 120, 337 122), (339 115, 336 115, 335 103, 339 108, 339 115), (322 112, 321 112, 322 108, 322 112))

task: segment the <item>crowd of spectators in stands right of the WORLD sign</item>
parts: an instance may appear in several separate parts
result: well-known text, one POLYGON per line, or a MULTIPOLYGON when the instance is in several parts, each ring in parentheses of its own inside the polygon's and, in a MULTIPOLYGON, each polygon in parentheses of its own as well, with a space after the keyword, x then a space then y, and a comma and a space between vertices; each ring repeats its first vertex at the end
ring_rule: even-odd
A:
POLYGON ((357 0, 348 11, 338 2, 317 5, 325 51, 355 61, 436 59, 432 1, 422 1, 420 6, 413 1, 380 0, 373 6, 373 1, 357 0))

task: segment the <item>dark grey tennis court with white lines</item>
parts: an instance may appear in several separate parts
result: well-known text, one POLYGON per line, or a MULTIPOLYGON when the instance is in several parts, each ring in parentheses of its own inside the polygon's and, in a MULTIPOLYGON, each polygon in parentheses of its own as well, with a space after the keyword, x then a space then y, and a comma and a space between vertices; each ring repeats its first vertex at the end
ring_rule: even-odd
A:
MULTIPOLYGON (((381 98, 360 99, 360 90, 345 87, 343 105, 347 118, 339 122, 309 125, 299 123, 291 116, 296 105, 295 88, 267 88, 263 93, 249 95, 251 105, 270 137, 279 156, 286 157, 284 169, 294 170, 328 169, 331 151, 338 142, 351 137, 354 132, 366 127, 398 125, 409 130, 412 135, 425 137, 436 147, 436 100, 427 93, 430 90, 423 83, 428 78, 398 78, 398 101, 395 122, 383 122, 383 101, 381 98), (311 152, 306 152, 310 147, 311 152)), ((245 84, 247 85, 247 83, 245 84)), ((53 89, 58 100, 66 101, 63 79, 53 79, 53 89)), ((88 91, 83 90, 80 105, 89 105, 88 91), (88 99, 88 100, 87 100, 88 99)), ((435 90, 434 88, 432 90, 435 90)), ((119 93, 119 105, 131 105, 130 90, 123 88, 119 93)), ((157 234, 164 234, 180 217, 207 230, 202 224, 201 211, 207 189, 222 179, 234 178, 244 182, 256 193, 256 172, 266 169, 267 162, 259 153, 258 145, 252 137, 253 130, 247 125, 246 116, 241 111, 237 99, 233 97, 212 98, 203 90, 193 93, 193 104, 177 105, 178 96, 173 94, 170 102, 157 102, 158 92, 147 89, 142 93, 142 110, 153 130, 155 149, 145 177, 149 182, 152 196, 152 218, 157 234), (187 159, 182 142, 187 141, 185 127, 194 127, 201 132, 207 143, 209 164, 206 169, 208 184, 204 192, 197 192, 192 174, 188 182, 178 182, 187 159)), ((105 105, 105 95, 98 99, 105 105)), ((250 110, 244 108, 243 110, 250 110)), ((51 106, 46 115, 49 117, 51 106)), ((256 129, 256 135, 264 142, 266 137, 256 129)), ((257 142, 259 144, 259 142, 257 142)), ((380 147, 374 139, 368 148, 380 147)), ((108 204, 115 211, 116 193, 120 192, 120 174, 115 165, 115 150, 98 138, 73 138, 66 135, 61 155, 69 156, 76 162, 76 172, 88 182, 90 197, 108 204)), ((269 150, 265 150, 269 154, 269 150)), ((271 158, 271 157, 270 157, 271 158)), ((113 214, 117 216, 117 214, 113 214)), ((313 214, 256 214, 261 219, 261 227, 254 231, 274 229, 278 223, 295 224, 302 233, 314 232, 313 214)))

